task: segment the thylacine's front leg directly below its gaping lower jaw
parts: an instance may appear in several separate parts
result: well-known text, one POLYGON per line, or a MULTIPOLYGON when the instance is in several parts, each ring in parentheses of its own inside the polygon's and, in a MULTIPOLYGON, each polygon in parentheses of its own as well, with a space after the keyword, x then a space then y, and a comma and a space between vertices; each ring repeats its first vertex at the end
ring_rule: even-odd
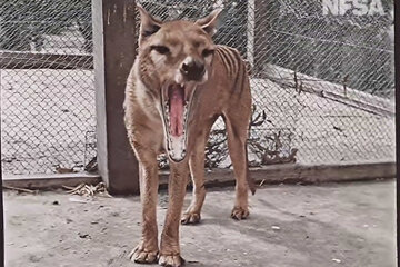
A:
POLYGON ((164 228, 161 234, 159 264, 161 266, 178 267, 184 263, 180 256, 179 225, 189 178, 188 160, 184 159, 179 164, 171 162, 170 168, 171 175, 168 184, 169 205, 164 228))

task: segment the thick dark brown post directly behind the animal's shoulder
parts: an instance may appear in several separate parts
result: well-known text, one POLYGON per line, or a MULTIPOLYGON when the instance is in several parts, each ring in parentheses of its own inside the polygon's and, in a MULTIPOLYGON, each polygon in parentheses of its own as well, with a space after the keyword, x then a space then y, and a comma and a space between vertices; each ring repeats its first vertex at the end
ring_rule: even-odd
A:
POLYGON ((137 48, 134 0, 92 0, 92 20, 99 171, 111 194, 138 194, 122 108, 137 48))

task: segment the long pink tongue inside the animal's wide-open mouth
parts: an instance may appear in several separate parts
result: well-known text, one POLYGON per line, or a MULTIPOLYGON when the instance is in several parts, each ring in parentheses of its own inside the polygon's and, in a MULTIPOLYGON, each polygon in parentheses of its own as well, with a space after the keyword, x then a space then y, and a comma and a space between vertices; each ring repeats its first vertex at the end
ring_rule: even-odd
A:
POLYGON ((170 131, 174 137, 183 135, 183 89, 172 87, 170 91, 170 131))

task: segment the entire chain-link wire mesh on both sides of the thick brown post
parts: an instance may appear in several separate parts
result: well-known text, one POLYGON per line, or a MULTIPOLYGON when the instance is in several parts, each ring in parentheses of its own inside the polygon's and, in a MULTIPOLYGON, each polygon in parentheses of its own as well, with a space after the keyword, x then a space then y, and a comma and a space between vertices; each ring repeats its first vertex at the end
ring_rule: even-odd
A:
MULTIPOLYGON (((81 57, 91 51, 90 1, 32 1, 37 8, 6 2, 0 48, 11 51, 9 66, 24 60, 40 67, 27 52, 69 62, 43 56, 46 66, 69 70, 2 66, 6 171, 79 169, 94 156, 92 71, 81 57)), ((251 165, 394 160, 391 0, 139 2, 163 20, 194 20, 223 8, 214 40, 237 48, 251 67, 251 165)), ((218 121, 208 166, 230 165, 223 139, 218 121)))

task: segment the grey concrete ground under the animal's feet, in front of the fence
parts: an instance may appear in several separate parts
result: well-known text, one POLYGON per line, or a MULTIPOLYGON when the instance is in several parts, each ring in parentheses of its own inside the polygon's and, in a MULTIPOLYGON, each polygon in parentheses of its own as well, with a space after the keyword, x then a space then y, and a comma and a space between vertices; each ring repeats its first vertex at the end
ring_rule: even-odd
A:
MULTIPOLYGON (((188 194, 186 205, 189 204, 188 194)), ((139 197, 4 192, 8 267, 139 266, 139 197)), ((232 188, 209 190, 198 226, 181 227, 187 266, 396 266, 396 182, 267 186, 233 221, 232 188)), ((159 226, 167 207, 160 194, 159 226)))

